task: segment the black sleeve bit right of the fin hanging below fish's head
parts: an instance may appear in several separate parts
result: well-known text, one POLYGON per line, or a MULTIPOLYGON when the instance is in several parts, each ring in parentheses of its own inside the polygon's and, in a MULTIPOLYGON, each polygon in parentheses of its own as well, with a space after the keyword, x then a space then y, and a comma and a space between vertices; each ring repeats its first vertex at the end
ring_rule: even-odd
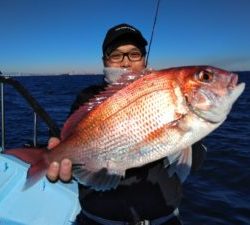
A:
POLYGON ((205 160, 207 148, 198 141, 192 145, 192 172, 199 170, 205 160))

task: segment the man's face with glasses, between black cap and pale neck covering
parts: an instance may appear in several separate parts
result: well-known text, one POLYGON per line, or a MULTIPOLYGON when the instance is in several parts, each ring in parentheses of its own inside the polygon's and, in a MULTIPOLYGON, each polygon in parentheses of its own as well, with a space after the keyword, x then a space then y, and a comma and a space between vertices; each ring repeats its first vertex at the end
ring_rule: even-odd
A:
POLYGON ((142 56, 141 51, 134 45, 122 45, 116 48, 105 56, 103 60, 105 67, 116 67, 140 72, 145 69, 145 56, 142 56))

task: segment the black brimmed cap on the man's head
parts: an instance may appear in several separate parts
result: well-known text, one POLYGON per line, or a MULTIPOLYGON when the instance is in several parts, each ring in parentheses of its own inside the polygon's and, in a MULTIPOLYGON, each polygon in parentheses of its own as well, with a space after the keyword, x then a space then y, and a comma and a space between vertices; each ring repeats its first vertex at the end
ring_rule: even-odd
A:
POLYGON ((142 54, 146 54, 145 46, 148 44, 141 32, 128 24, 119 24, 110 28, 102 44, 103 56, 109 55, 114 49, 121 45, 133 44, 138 47, 142 54))

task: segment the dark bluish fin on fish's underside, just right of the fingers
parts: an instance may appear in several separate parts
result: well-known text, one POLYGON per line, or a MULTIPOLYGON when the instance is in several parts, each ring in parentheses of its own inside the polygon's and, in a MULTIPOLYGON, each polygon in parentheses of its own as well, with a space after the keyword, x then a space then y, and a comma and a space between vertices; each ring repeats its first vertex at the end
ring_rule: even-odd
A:
POLYGON ((111 173, 107 168, 91 171, 85 165, 78 164, 73 165, 73 176, 80 184, 96 191, 106 191, 116 188, 123 174, 118 171, 111 173))

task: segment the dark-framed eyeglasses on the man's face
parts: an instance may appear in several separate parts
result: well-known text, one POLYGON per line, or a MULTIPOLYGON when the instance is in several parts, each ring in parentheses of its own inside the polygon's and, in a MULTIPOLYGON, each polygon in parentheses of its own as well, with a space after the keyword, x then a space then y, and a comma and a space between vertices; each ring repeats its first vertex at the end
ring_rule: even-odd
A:
POLYGON ((112 63, 120 63, 123 61, 125 56, 128 57, 129 61, 135 62, 135 61, 140 61, 143 55, 138 50, 132 50, 130 52, 114 51, 107 56, 107 59, 112 63))

